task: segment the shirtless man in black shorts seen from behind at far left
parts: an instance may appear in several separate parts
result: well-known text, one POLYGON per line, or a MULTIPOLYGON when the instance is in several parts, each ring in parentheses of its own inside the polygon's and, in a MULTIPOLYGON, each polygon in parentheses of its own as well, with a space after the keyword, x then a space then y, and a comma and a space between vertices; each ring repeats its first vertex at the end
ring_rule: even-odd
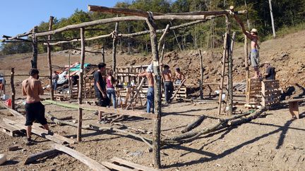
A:
POLYGON ((40 102, 40 96, 43 95, 42 84, 39 78, 39 71, 35 68, 30 70, 30 77, 22 82, 23 96, 26 97, 25 103, 25 126, 27 126, 27 145, 32 144, 31 133, 32 133, 32 122, 35 120, 49 131, 47 120, 44 118, 44 106, 40 102))

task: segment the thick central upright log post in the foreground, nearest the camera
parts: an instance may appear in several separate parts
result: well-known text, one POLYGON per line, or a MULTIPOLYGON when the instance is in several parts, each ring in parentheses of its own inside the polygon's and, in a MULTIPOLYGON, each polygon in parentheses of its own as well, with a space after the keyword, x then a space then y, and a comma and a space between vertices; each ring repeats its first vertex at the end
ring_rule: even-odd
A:
POLYGON ((153 128, 153 137, 152 137, 152 151, 153 151, 153 161, 154 166, 157 168, 161 167, 160 159, 160 134, 161 134, 161 75, 160 75, 160 66, 159 66, 159 52, 157 49, 157 34, 156 34, 156 25, 155 21, 152 18, 152 13, 148 13, 148 18, 146 23, 150 29, 150 43, 152 47, 152 58, 153 58, 153 70, 155 73, 155 115, 157 118, 154 119, 154 128, 153 128))

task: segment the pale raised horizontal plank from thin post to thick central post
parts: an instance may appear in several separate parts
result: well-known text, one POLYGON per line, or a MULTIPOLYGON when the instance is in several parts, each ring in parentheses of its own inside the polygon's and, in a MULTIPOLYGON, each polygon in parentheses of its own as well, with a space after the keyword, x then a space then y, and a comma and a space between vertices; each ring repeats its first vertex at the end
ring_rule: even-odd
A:
POLYGON ((134 110, 123 110, 120 108, 107 108, 107 107, 101 107, 101 106, 90 106, 88 104, 81 104, 79 106, 80 108, 90 108, 92 110, 99 110, 104 113, 115 113, 118 115, 129 115, 129 116, 136 116, 140 118, 148 118, 148 119, 154 119, 156 118, 155 114, 145 113, 142 111, 134 111, 134 110))

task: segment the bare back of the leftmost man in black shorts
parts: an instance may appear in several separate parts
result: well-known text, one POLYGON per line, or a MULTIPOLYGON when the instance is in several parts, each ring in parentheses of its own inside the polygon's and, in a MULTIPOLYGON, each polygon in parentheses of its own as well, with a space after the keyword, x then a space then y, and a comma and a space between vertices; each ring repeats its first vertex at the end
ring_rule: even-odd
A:
POLYGON ((43 95, 42 84, 40 80, 36 80, 33 77, 29 77, 27 80, 22 82, 23 96, 26 97, 26 103, 35 103, 40 101, 40 96, 43 95))

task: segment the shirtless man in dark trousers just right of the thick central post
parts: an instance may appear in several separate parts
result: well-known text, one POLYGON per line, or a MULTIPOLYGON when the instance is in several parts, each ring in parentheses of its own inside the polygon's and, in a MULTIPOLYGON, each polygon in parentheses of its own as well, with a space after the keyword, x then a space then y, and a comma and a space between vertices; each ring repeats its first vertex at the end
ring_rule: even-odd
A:
POLYGON ((169 70, 169 65, 163 66, 164 70, 162 71, 162 78, 165 85, 165 101, 170 103, 172 98, 172 92, 174 91, 174 85, 172 83, 172 71, 169 70))

